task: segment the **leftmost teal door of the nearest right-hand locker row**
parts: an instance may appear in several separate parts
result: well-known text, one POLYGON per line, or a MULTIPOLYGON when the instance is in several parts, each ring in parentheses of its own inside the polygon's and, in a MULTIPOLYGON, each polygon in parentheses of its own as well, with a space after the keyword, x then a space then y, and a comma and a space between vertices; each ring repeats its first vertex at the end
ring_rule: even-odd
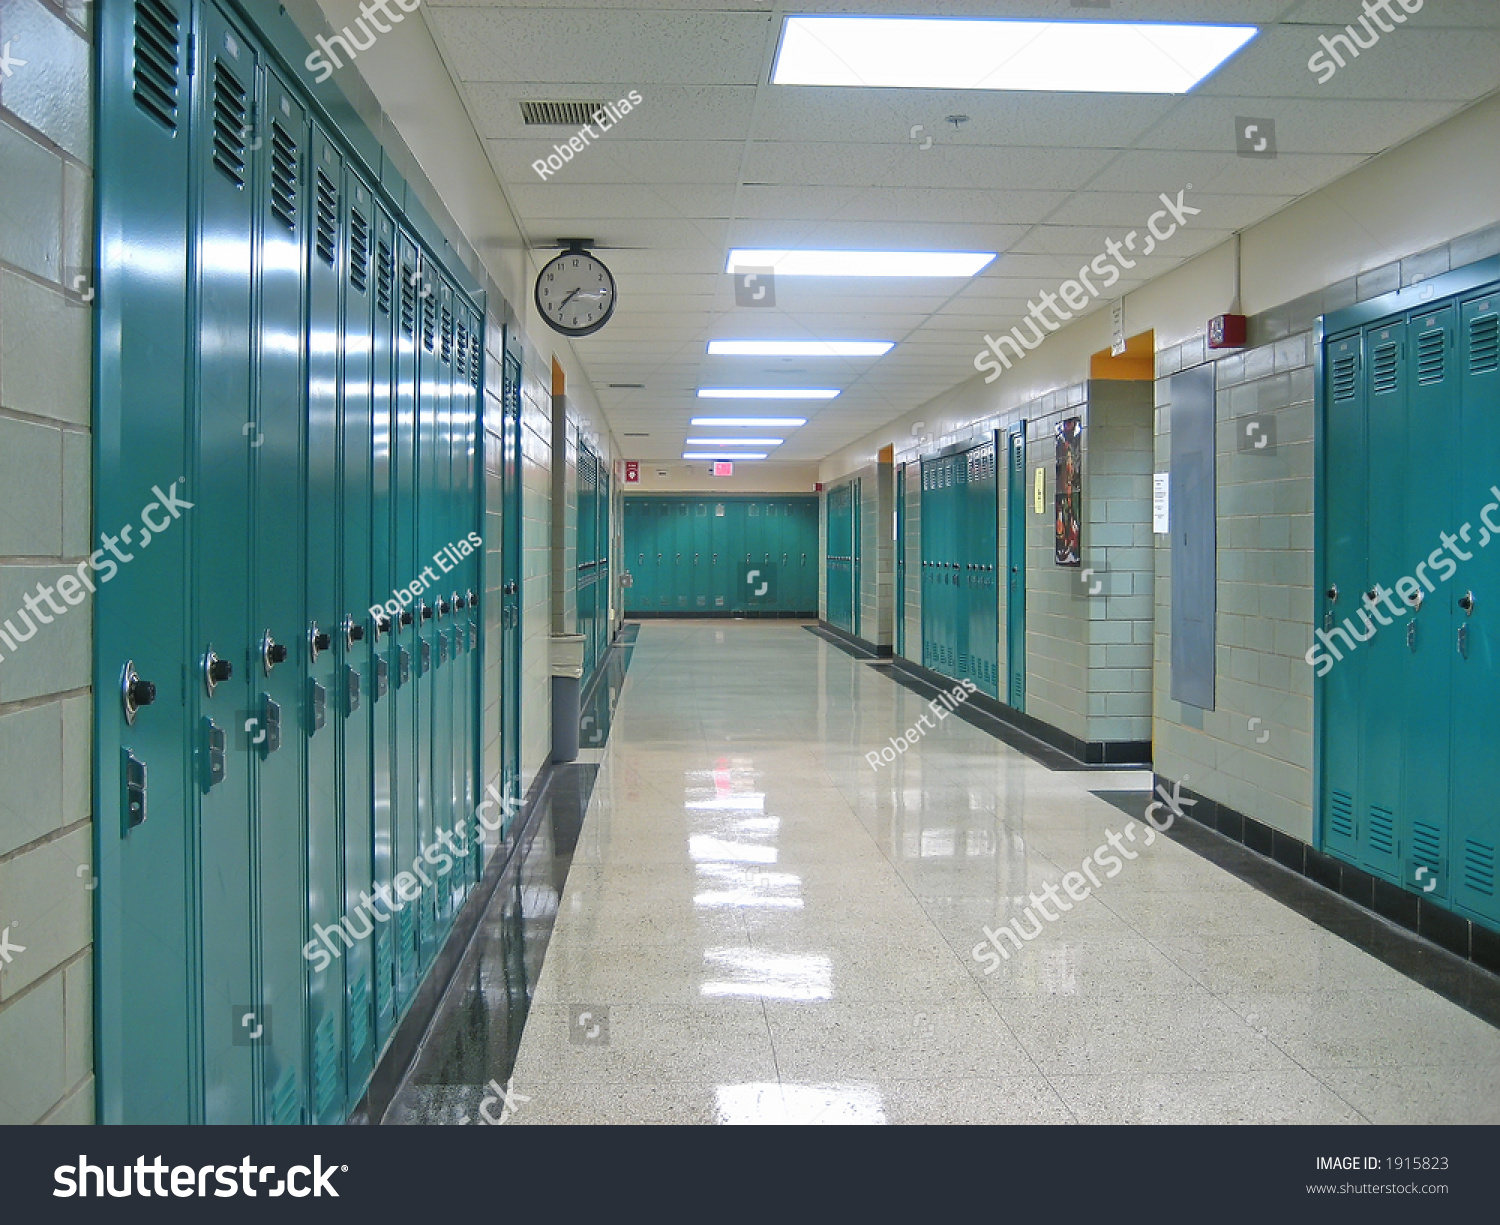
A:
MULTIPOLYGON (((1323 850, 1358 859, 1360 757, 1365 658, 1352 648, 1342 619, 1360 606, 1370 573, 1365 511, 1370 465, 1365 441, 1364 337, 1329 340, 1323 387, 1323 591, 1318 592, 1320 630, 1342 660, 1328 655, 1317 666, 1322 679, 1322 831, 1323 850), (1340 634, 1344 634, 1340 646, 1340 634)), ((1392 576, 1400 577, 1400 574, 1392 576)), ((1316 673, 1314 673, 1316 675, 1316 673)))

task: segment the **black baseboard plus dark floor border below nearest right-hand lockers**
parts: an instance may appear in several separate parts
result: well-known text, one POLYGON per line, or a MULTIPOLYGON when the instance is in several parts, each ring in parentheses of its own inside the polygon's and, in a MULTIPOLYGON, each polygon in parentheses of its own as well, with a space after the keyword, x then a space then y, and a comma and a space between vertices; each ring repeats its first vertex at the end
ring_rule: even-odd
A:
MULTIPOLYGON (((1191 801, 1167 834, 1173 841, 1500 1027, 1500 933, 1154 777, 1164 795, 1191 801)), ((1095 795, 1131 811, 1113 792, 1095 795)))

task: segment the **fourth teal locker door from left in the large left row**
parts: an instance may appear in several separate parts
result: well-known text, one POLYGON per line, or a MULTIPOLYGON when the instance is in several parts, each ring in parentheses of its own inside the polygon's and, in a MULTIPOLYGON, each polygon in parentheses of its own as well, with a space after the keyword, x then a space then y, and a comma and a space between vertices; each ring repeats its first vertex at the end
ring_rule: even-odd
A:
MULTIPOLYGON (((312 1057, 312 1122, 345 1117, 342 934, 344 831, 339 811, 342 747, 339 744, 342 681, 336 637, 339 600, 339 402, 344 346, 340 328, 344 235, 340 195, 344 157, 314 124, 312 249, 309 253, 308 340, 308 628, 298 652, 308 663, 308 934, 309 949, 324 948, 309 964, 308 1024, 312 1057), (328 936, 322 936, 328 933, 328 936), (316 943, 314 943, 316 942, 316 943), (324 969, 318 964, 330 954, 324 969)), ((352 943, 352 942, 348 942, 352 943)))

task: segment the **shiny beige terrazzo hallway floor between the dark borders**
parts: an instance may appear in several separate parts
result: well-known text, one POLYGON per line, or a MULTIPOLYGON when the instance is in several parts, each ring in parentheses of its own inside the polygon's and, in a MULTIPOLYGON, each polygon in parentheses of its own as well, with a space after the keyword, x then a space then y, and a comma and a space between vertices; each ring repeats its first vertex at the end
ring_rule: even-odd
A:
POLYGON ((986 975, 1149 775, 956 717, 873 769, 921 714, 801 627, 648 622, 507 1122, 1500 1122, 1500 1030, 1164 837, 986 975))

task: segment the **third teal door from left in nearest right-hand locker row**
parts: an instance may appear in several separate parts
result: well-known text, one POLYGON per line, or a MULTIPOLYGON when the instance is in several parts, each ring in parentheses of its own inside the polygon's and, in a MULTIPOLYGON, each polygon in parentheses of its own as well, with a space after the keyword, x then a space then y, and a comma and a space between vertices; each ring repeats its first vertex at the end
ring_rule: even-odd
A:
MULTIPOLYGON (((1404 603, 1410 613, 1395 619, 1382 634, 1396 637, 1401 660, 1400 693, 1382 696, 1401 711, 1402 780, 1396 823, 1400 849, 1400 879, 1408 889, 1422 891, 1434 901, 1449 897, 1448 846, 1448 747, 1450 741, 1452 672, 1455 663, 1455 631, 1458 598, 1462 588, 1456 582, 1442 582, 1442 574, 1454 573, 1454 556, 1443 552, 1443 532, 1456 531, 1462 519, 1454 520, 1450 498, 1422 496, 1424 490, 1450 487, 1452 471, 1446 448, 1434 447, 1434 436, 1454 438, 1460 429, 1458 372, 1455 369, 1456 309, 1444 304, 1412 318, 1406 328, 1406 346, 1413 361, 1407 397, 1407 432, 1400 439, 1402 451, 1402 486, 1412 496, 1406 507, 1406 538, 1401 544, 1402 565, 1396 571, 1376 574, 1376 580, 1394 585, 1412 574, 1426 579, 1432 591, 1410 591, 1410 600, 1396 592, 1390 604, 1404 603), (1434 552, 1432 546, 1438 546, 1434 552), (1437 562, 1437 574, 1428 571, 1437 562), (1455 589, 1456 588, 1456 589, 1455 589), (1420 877, 1418 870, 1425 868, 1420 877), (1428 891, 1426 886, 1436 886, 1428 891)), ((1479 505, 1479 504, 1476 504, 1479 505)), ((1460 511, 1468 514, 1470 510, 1460 511)), ((1478 532, 1473 532, 1478 547, 1478 532)), ((1467 552, 1466 546, 1456 546, 1467 552)), ((1392 619, 1389 606, 1386 619, 1392 619)))

